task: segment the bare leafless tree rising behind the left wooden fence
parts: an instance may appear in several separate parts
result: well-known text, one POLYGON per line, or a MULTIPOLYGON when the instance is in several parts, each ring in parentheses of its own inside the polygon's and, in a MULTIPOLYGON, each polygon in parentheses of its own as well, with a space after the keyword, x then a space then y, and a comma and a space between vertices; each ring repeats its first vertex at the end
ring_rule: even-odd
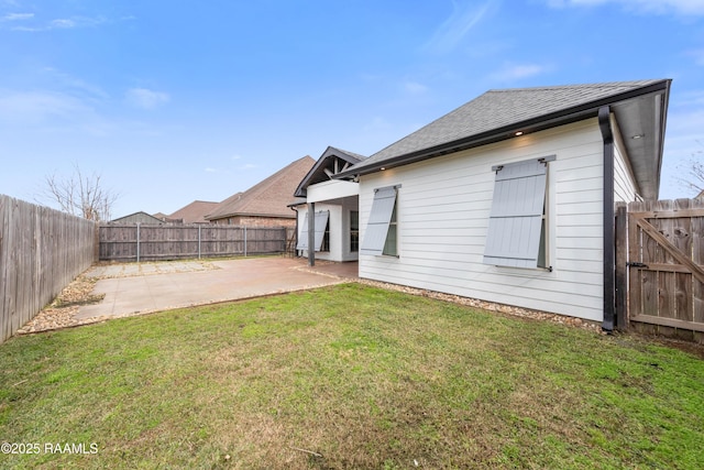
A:
POLYGON ((118 193, 103 187, 98 173, 85 175, 77 164, 74 164, 74 173, 69 177, 52 174, 46 176, 45 184, 42 199, 56 203, 63 211, 88 220, 110 220, 112 206, 119 197, 118 193))

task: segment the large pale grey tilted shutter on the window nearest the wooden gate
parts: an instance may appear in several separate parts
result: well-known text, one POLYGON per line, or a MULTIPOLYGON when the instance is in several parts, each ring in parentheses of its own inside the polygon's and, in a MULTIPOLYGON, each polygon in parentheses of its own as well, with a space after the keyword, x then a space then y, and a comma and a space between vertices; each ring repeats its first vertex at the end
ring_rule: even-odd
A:
POLYGON ((498 166, 490 215, 484 263, 538 267, 546 201, 547 161, 498 166))

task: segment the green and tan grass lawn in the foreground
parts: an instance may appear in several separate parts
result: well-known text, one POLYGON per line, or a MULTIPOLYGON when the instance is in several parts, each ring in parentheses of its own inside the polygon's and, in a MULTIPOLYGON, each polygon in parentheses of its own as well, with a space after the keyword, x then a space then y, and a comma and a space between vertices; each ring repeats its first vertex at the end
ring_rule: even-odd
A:
POLYGON ((13 338, 0 441, 38 444, 0 468, 700 469, 704 360, 345 284, 13 338))

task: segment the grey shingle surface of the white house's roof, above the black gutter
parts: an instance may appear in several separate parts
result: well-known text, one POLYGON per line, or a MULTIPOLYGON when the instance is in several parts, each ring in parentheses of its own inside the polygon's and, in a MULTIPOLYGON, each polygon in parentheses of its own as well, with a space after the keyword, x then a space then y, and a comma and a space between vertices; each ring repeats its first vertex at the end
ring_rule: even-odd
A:
MULTIPOLYGON (((519 130, 522 123, 557 119, 629 97, 637 90, 667 80, 636 80, 592 85, 490 90, 354 165, 342 176, 378 170, 385 162, 418 153, 432 153, 453 143, 470 142, 519 130), (366 171, 365 171, 366 170, 366 171)), ((669 81, 668 81, 669 83, 669 81)), ((506 138, 508 134, 506 135, 506 138)), ((447 153, 447 152, 444 152, 447 153)), ((441 154, 441 153, 438 153, 441 154)), ((428 155, 436 156, 436 155, 428 155)))

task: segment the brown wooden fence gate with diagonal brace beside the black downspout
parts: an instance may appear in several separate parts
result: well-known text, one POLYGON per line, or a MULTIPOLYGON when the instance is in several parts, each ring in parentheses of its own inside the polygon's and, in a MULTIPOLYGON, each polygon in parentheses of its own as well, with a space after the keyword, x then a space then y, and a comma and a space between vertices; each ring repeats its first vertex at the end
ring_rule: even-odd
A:
POLYGON ((630 203, 626 265, 632 327, 704 340, 704 201, 630 203))

